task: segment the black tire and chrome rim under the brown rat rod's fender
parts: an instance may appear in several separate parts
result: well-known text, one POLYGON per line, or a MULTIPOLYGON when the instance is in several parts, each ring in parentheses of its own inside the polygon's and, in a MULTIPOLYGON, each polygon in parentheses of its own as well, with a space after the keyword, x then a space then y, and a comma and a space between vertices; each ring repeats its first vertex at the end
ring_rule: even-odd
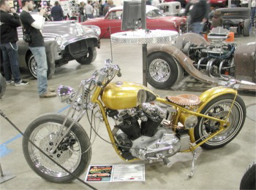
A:
POLYGON ((182 79, 183 69, 171 55, 165 52, 154 52, 148 55, 147 59, 147 79, 152 87, 170 89, 182 79), (159 69, 162 73, 159 73, 159 69))

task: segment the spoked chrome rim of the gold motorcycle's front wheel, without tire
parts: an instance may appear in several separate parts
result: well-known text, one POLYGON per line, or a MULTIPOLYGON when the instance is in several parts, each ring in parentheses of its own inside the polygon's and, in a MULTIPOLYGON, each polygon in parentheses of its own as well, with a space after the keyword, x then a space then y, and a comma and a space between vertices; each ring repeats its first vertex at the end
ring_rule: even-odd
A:
MULTIPOLYGON (((58 123, 45 123, 39 125, 30 135, 30 140, 35 143, 40 149, 49 154, 51 147, 53 146, 54 140, 61 129, 61 124, 58 123)), ((75 140, 72 146, 69 146, 66 150, 57 149, 56 153, 51 157, 58 162, 61 166, 73 173, 80 164, 81 160, 81 146, 78 138, 75 134, 70 131, 68 137, 75 140)), ((45 157, 40 151, 38 151, 31 143, 29 143, 29 155, 31 161, 42 173, 53 177, 64 177, 69 173, 62 170, 59 166, 54 164, 50 159, 45 157)))

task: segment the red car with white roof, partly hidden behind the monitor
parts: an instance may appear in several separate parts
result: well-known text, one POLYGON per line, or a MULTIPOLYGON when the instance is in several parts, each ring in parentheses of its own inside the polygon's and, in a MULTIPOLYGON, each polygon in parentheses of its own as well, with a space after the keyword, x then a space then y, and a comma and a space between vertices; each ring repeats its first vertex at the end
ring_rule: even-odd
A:
MULTIPOLYGON (((97 25, 101 29, 100 38, 108 39, 111 33, 121 32, 121 15, 123 7, 111 8, 105 17, 86 20, 82 25, 97 25)), ((157 7, 146 6, 146 26, 149 30, 162 29, 170 31, 184 30, 186 19, 183 17, 165 16, 157 7)))

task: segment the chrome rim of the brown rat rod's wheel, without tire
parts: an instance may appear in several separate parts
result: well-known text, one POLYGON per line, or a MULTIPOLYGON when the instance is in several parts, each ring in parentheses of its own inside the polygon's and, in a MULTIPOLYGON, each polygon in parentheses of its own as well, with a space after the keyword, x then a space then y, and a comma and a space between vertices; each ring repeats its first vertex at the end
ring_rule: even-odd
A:
POLYGON ((156 82, 166 82, 170 77, 170 66, 165 60, 156 59, 149 65, 149 74, 156 82))

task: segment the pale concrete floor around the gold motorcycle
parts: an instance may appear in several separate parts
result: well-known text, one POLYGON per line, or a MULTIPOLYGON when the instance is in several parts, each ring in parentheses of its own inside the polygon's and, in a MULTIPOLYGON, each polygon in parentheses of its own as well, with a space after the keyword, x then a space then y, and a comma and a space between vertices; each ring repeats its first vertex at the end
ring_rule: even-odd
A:
MULTIPOLYGON (((238 38, 237 43, 255 41, 255 33, 250 37, 238 38)), ((121 81, 132 81, 142 84, 142 52, 140 46, 113 44, 114 63, 121 67, 121 81)), ((86 79, 104 65, 110 58, 110 41, 102 40, 101 49, 97 50, 97 58, 89 66, 80 66, 71 61, 65 66, 56 69, 56 74, 49 80, 49 86, 57 88, 60 84, 78 88, 81 79, 86 79)), ((60 103, 59 98, 40 99, 37 95, 37 81, 29 76, 29 72, 22 69, 23 79, 29 80, 29 85, 23 87, 8 86, 6 93, 0 99, 1 110, 25 131, 29 123, 39 116, 49 112, 59 112, 67 104, 60 103)), ((193 84, 193 83, 192 83, 193 84)), ((193 93, 200 95, 210 87, 208 84, 184 84, 180 89, 157 90, 148 86, 161 96, 193 93)), ((255 92, 240 92, 246 105, 255 103, 255 92)), ((250 118, 255 119, 255 107, 248 108, 250 118)), ((61 111, 65 114, 67 110, 61 111)), ((182 153, 171 157, 173 166, 167 168, 162 162, 149 164, 147 162, 123 162, 112 146, 97 138, 92 146, 91 165, 118 165, 143 163, 146 165, 145 182, 122 183, 91 183, 97 189, 238 189, 241 177, 246 167, 255 159, 256 155, 256 126, 255 121, 246 117, 246 122, 238 136, 227 146, 221 149, 206 151, 198 149, 198 158, 195 165, 195 175, 188 178, 192 154, 182 153)), ((1 183, 0 189, 89 189, 79 181, 67 184, 49 183, 35 174, 23 157, 22 138, 18 132, 2 117, 1 122, 1 167, 4 172, 10 171, 16 175, 10 181, 1 183)), ((80 122, 88 131, 86 118, 80 122)), ((112 123, 112 122, 111 122, 112 123)), ((107 130, 102 124, 99 134, 109 139, 107 130)), ((86 173, 80 177, 84 179, 86 173)))

